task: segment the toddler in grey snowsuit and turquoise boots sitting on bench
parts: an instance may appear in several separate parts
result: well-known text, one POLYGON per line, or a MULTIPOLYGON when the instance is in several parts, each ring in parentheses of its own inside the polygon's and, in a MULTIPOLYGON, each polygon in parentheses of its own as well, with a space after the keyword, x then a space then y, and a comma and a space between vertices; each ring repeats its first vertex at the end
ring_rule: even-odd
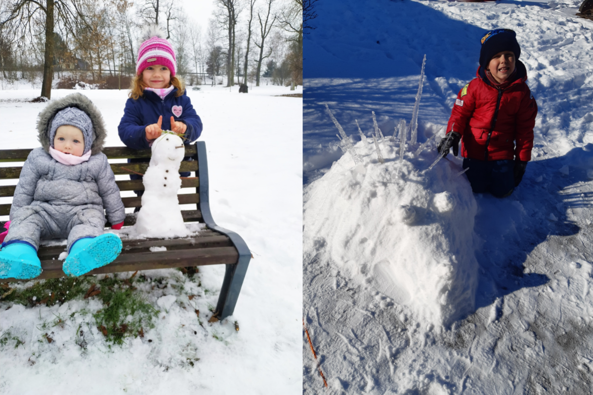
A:
POLYGON ((68 237, 63 271, 82 275, 112 262, 122 251, 113 233, 103 234, 105 213, 114 229, 126 217, 115 176, 101 152, 103 117, 87 97, 50 102, 37 122, 42 147, 28 155, 0 251, 0 278, 41 274, 40 238, 68 237))

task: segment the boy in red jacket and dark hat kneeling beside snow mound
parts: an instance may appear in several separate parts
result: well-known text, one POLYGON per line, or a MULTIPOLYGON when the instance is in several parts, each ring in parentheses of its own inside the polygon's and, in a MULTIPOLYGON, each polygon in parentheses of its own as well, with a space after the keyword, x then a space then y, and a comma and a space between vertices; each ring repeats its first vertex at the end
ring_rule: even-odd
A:
POLYGON ((457 156, 471 189, 506 197, 517 187, 531 160, 537 103, 525 84, 527 70, 514 31, 496 29, 482 37, 476 78, 463 87, 451 111, 447 135, 438 144, 457 156))

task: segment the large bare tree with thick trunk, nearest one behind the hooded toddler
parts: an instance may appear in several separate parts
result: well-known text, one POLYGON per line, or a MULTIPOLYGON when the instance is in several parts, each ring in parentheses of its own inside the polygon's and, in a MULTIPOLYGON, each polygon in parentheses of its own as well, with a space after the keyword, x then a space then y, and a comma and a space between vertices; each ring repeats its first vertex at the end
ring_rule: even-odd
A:
POLYGON ((54 30, 56 23, 68 31, 86 24, 84 14, 79 9, 82 1, 74 0, 14 0, 4 12, 0 24, 14 32, 21 42, 30 41, 35 25, 42 24, 45 33, 43 59, 43 82, 41 95, 50 98, 53 80, 54 30), (57 17, 57 18, 56 18, 57 17))

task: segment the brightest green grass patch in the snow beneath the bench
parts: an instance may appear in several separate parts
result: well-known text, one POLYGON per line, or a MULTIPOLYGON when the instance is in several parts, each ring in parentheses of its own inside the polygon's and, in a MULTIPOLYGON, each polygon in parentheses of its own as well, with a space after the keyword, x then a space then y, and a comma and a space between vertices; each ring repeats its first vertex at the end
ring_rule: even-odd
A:
POLYGON ((159 310, 146 303, 132 288, 122 289, 113 284, 113 287, 101 287, 101 294, 98 296, 105 307, 93 314, 93 317, 107 341, 122 344, 126 337, 138 336, 142 328, 154 327, 152 319, 159 310), (132 320, 128 321, 128 316, 132 316, 132 320))

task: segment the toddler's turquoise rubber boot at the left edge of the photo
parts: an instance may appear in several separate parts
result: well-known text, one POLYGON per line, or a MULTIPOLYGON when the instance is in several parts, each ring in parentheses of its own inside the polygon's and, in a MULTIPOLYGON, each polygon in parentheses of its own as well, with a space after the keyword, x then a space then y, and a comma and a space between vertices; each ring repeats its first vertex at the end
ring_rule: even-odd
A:
POLYGON ((28 280, 41 272, 41 261, 30 244, 11 243, 0 251, 0 278, 28 280))

